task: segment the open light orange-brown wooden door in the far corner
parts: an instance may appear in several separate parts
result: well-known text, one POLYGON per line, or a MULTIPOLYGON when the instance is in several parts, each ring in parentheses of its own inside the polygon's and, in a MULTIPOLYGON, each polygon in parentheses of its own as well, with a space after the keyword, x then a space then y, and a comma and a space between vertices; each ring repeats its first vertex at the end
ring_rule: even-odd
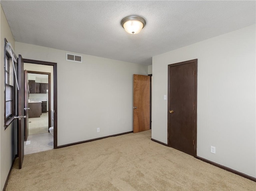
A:
POLYGON ((133 132, 150 129, 150 76, 133 75, 133 132))

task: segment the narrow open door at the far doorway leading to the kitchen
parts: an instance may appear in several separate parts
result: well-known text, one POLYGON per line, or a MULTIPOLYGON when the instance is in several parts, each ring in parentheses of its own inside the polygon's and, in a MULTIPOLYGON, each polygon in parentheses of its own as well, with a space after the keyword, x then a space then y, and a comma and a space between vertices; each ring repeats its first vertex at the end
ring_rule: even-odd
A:
POLYGON ((28 140, 28 112, 29 112, 29 107, 28 107, 28 71, 24 71, 24 115, 26 116, 26 119, 24 120, 24 139, 25 141, 28 140))

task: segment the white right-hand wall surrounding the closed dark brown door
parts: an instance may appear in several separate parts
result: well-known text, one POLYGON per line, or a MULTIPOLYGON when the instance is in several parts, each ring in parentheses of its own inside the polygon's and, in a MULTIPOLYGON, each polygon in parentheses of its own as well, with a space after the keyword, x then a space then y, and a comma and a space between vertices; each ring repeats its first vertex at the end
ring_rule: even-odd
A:
POLYGON ((198 59, 197 155, 256 177, 255 36, 252 25, 154 56, 152 138, 167 143, 168 64, 198 59))

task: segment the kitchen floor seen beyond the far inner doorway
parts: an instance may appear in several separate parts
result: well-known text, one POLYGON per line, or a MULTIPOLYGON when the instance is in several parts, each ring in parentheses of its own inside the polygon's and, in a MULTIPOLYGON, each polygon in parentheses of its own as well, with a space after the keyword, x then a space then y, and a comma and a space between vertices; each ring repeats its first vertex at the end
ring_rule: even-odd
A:
POLYGON ((48 112, 42 113, 40 117, 28 118, 28 134, 39 134, 48 132, 48 112))

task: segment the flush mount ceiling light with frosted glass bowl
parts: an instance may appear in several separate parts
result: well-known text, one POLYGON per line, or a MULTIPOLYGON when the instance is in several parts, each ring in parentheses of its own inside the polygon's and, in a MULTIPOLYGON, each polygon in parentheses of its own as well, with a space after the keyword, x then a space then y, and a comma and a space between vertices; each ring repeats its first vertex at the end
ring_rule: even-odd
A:
POLYGON ((146 20, 139 16, 128 16, 122 19, 121 25, 126 32, 137 34, 146 25, 146 20))

